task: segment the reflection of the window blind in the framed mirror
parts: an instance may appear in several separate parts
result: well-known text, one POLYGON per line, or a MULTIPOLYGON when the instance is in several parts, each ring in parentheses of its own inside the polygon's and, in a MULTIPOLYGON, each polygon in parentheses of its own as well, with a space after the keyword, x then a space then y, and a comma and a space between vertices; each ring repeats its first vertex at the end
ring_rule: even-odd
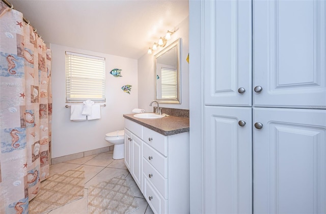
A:
POLYGON ((161 68, 162 98, 177 98, 176 69, 161 68))

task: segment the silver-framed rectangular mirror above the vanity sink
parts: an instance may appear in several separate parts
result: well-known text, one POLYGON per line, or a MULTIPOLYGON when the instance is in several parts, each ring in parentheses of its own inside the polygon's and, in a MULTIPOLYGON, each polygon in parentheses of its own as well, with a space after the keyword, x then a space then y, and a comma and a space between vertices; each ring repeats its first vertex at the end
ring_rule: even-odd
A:
POLYGON ((159 103, 181 103, 181 38, 154 56, 155 100, 159 103))

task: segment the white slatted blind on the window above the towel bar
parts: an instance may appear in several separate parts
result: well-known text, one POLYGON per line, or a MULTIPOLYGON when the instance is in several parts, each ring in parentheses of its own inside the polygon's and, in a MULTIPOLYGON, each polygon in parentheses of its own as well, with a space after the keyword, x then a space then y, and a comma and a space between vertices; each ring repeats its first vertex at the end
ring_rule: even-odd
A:
POLYGON ((105 101, 105 58, 66 51, 66 101, 105 101))

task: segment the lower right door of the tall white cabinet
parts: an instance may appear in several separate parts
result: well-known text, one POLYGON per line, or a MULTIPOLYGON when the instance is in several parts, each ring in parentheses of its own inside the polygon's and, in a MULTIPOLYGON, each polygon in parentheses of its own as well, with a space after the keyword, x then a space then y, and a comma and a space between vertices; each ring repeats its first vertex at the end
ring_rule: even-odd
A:
POLYGON ((326 213, 326 110, 253 111, 254 212, 326 213))

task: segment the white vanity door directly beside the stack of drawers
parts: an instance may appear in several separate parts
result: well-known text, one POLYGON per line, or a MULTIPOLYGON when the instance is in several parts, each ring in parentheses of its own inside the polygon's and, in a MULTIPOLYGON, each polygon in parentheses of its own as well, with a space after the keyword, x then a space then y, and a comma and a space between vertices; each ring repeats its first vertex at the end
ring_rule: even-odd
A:
POLYGON ((131 175, 139 189, 142 190, 142 140, 135 135, 132 135, 131 151, 131 175))

